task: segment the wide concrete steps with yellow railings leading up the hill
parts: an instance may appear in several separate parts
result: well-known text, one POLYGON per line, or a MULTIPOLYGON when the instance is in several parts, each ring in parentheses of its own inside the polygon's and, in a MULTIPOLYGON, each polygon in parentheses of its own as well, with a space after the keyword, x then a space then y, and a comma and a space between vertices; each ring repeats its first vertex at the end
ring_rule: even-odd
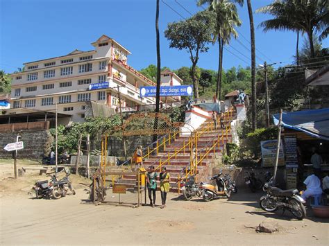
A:
MULTIPOLYGON (((233 114, 233 117, 230 119, 230 121, 232 121, 234 118, 235 114, 233 114)), ((230 121, 223 122, 225 127, 230 123, 230 121)), ((220 124, 218 123, 217 125, 220 124)), ((213 159, 215 155, 222 155, 223 148, 225 147, 226 143, 231 142, 232 136, 230 133, 226 134, 225 129, 223 131, 220 128, 218 130, 214 130, 214 123, 211 119, 205 121, 196 130, 196 132, 202 132, 197 138, 198 160, 200 157, 205 155, 205 153, 208 151, 208 148, 213 145, 214 141, 217 141, 218 138, 221 139, 222 133, 224 136, 220 143, 217 144, 216 147, 208 153, 208 155, 201 161, 201 164, 197 167, 198 174, 202 176, 203 173, 207 173, 208 169, 210 168, 210 163, 214 161, 213 159)), ((157 155, 150 155, 150 157, 144 161, 143 166, 146 170, 148 170, 149 167, 153 165, 155 168, 158 168, 156 172, 160 173, 160 159, 161 162, 163 162, 168 159, 168 156, 171 158, 169 161, 170 163, 165 162, 165 164, 162 165, 166 166, 167 172, 170 174, 171 192, 178 192, 178 177, 185 176, 185 173, 183 173, 183 168, 189 166, 190 150, 188 146, 186 146, 185 152, 178 152, 175 157, 176 150, 182 148, 184 143, 186 144, 188 141, 189 137, 177 137, 175 140, 171 141, 170 145, 165 146, 165 150, 159 150, 157 155)), ((124 175, 121 179, 117 180, 117 183, 125 184, 127 188, 135 188, 135 190, 137 187, 135 175, 124 175)))

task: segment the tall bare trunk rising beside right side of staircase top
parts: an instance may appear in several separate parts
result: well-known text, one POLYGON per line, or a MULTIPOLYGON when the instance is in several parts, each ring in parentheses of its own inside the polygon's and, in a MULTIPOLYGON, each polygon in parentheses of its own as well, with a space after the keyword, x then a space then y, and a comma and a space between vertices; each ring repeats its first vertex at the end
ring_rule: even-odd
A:
POLYGON ((252 108, 252 127, 257 128, 257 96, 256 96, 256 54, 255 54, 255 28, 253 25, 253 9, 251 8, 251 0, 247 0, 249 24, 250 24, 250 39, 251 39, 251 108, 252 108))

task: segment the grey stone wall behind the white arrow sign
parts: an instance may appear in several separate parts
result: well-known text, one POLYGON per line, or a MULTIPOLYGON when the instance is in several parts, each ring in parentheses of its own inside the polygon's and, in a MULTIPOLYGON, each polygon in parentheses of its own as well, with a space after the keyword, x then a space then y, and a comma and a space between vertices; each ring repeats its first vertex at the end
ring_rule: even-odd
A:
POLYGON ((24 149, 17 150, 17 158, 42 160, 42 155, 48 155, 53 137, 48 130, 26 130, 19 132, 0 132, 0 158, 12 158, 12 152, 3 150, 7 143, 14 143, 17 134, 24 142, 24 149))

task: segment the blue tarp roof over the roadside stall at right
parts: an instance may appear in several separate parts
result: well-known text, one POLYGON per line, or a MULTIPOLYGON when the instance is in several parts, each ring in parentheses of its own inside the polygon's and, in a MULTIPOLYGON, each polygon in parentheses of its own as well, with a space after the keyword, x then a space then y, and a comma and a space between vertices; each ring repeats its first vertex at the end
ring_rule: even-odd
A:
MULTIPOLYGON (((274 114, 274 124, 278 125, 280 114, 274 114)), ((329 108, 298 112, 283 112, 282 125, 305 132, 312 137, 329 140, 329 108)))

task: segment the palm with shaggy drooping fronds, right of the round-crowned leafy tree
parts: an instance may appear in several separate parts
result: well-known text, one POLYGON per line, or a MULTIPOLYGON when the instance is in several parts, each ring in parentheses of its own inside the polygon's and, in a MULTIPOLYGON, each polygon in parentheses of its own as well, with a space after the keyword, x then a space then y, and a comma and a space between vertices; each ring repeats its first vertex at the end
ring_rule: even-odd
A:
MULTIPOLYGON (((235 1, 242 3, 242 1, 235 1)), ((227 0, 200 0, 198 5, 208 3, 208 10, 216 13, 216 28, 214 29, 214 40, 217 39, 219 45, 219 62, 217 73, 216 97, 221 99, 221 81, 223 71, 223 46, 230 43, 230 37, 237 38, 235 26, 241 26, 237 7, 227 0)))

